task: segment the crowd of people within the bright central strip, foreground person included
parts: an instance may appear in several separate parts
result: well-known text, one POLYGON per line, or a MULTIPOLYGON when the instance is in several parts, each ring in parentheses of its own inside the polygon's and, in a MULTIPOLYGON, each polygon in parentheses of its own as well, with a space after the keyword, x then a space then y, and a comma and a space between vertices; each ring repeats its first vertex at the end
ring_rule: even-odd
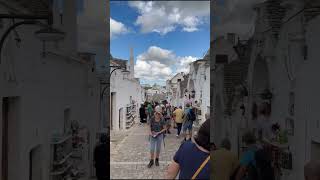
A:
MULTIPOLYGON (((193 124, 197 120, 197 109, 186 103, 185 107, 174 107, 167 102, 145 103, 139 109, 140 123, 146 123, 149 131, 150 162, 159 166, 159 156, 164 137, 177 129, 176 137, 183 140, 168 166, 168 179, 209 179, 210 177, 210 120, 200 127, 196 136, 192 135, 193 124)), ((206 116, 209 117, 208 115, 206 116)))

